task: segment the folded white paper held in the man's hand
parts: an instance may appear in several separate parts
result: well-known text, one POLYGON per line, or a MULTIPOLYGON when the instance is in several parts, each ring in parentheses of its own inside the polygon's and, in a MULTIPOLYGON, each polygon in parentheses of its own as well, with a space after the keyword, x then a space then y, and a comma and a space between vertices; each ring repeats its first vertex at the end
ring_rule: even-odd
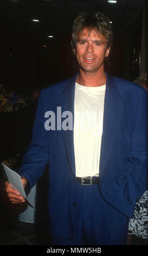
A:
MULTIPOLYGON (((11 187, 17 190, 21 194, 21 196, 27 200, 27 196, 23 188, 21 176, 17 174, 14 170, 11 170, 8 166, 5 166, 4 163, 2 164, 11 187)), ((28 200, 27 200, 27 203, 34 208, 34 206, 28 200)))

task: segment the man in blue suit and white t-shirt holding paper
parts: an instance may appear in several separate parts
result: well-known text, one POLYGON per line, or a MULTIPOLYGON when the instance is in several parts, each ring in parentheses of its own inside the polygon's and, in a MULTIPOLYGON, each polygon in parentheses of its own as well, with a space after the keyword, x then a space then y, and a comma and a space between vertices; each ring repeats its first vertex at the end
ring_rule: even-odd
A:
MULTIPOLYGON (((104 15, 80 14, 72 45, 79 74, 42 90, 22 183, 33 187, 49 162, 50 244, 125 245, 147 189, 147 93, 104 71, 112 46, 104 15)), ((24 202, 8 182, 6 191, 24 202)))

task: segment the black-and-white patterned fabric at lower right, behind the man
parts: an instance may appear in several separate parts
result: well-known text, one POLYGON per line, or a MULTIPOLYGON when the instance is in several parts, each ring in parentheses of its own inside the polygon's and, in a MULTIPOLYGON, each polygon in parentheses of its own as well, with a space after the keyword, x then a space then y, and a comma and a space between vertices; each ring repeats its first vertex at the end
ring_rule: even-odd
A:
POLYGON ((128 234, 148 239, 148 191, 136 203, 133 218, 129 222, 128 234))

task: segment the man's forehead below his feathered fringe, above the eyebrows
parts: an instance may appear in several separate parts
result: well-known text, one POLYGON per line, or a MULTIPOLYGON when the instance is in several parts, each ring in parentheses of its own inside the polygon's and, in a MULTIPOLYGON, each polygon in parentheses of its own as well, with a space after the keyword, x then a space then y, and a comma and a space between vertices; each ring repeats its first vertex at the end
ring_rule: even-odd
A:
POLYGON ((83 28, 82 31, 78 33, 77 40, 81 38, 87 39, 88 37, 106 41, 106 37, 102 35, 100 31, 98 31, 97 29, 89 29, 89 28, 83 28))

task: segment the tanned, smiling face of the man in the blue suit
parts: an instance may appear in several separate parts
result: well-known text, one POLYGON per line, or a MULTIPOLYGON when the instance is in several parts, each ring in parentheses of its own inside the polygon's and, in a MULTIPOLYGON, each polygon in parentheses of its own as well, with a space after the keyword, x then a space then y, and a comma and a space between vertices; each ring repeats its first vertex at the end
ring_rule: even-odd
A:
POLYGON ((79 33, 76 41, 74 53, 79 62, 80 69, 83 72, 104 71, 104 59, 110 53, 110 47, 107 49, 106 38, 93 30, 89 33, 84 28, 79 33))

